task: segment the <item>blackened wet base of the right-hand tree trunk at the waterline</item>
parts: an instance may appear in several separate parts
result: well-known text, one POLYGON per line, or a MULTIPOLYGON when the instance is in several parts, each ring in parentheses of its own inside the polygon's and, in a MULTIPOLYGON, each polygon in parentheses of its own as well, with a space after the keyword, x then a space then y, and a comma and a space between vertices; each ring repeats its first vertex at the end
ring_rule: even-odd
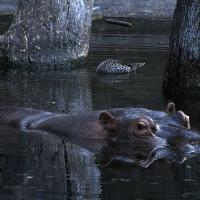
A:
MULTIPOLYGON (((200 61, 184 64, 170 63, 170 67, 177 69, 165 72, 162 91, 165 98, 175 100, 178 98, 200 99, 200 61)), ((169 69, 169 64, 168 67, 169 69)))

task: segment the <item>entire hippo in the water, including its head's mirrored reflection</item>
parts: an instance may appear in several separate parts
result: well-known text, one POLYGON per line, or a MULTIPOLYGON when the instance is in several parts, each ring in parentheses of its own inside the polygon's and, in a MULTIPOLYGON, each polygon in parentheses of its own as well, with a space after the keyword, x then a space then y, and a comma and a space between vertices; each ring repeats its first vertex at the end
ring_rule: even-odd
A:
POLYGON ((176 111, 173 103, 167 105, 165 112, 115 108, 74 116, 32 108, 1 107, 0 124, 25 132, 64 136, 76 144, 85 144, 88 149, 98 146, 98 160, 103 163, 119 161, 141 167, 161 158, 183 162, 195 152, 200 139, 199 133, 191 130, 189 117, 176 111))

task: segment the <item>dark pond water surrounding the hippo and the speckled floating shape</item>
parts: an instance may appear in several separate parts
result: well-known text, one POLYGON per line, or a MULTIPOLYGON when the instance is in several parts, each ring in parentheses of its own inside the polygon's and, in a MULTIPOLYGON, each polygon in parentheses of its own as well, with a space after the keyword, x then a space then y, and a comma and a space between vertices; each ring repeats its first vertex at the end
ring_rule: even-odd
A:
MULTIPOLYGON (((68 114, 126 106, 164 110, 161 84, 169 32, 169 21, 139 20, 131 29, 96 22, 84 65, 1 73, 0 105, 68 114), (96 75, 97 64, 106 58, 146 65, 135 75, 96 75)), ((196 200, 199 163, 197 155, 183 164, 157 161, 147 169, 99 167, 94 153, 55 135, 0 126, 1 200, 196 200)))

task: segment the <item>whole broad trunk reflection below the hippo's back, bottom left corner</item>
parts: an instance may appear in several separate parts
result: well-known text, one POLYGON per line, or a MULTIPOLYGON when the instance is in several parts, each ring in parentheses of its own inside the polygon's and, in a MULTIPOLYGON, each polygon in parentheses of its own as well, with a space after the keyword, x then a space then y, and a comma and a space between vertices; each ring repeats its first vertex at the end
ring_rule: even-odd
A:
POLYGON ((0 132, 0 199, 98 199, 100 171, 89 151, 51 134, 0 132))

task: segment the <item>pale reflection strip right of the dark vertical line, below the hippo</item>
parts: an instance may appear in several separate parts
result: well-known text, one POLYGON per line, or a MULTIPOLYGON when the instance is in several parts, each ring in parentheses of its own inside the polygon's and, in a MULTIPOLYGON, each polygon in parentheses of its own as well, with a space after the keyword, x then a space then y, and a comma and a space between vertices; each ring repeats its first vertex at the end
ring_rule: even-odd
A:
POLYGON ((101 172, 95 164, 95 156, 86 149, 72 144, 65 146, 72 199, 99 199, 101 172))

